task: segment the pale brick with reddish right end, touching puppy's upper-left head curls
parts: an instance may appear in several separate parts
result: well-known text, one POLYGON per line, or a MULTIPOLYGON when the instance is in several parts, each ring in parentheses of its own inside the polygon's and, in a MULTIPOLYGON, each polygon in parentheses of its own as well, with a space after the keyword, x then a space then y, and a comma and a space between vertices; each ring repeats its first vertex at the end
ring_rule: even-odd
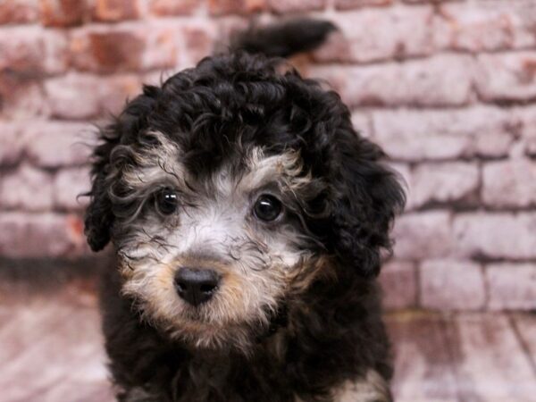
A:
POLYGON ((53 117, 86 119, 120 113, 126 99, 141 92, 141 80, 130 74, 98 77, 71 73, 46 80, 45 91, 53 117))

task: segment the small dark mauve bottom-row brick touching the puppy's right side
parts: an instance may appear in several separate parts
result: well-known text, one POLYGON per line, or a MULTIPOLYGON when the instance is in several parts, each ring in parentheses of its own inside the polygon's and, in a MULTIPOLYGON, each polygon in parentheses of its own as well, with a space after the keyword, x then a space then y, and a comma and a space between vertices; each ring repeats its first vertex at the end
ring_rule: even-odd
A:
POLYGON ((417 304, 415 264, 392 261, 381 269, 383 306, 388 309, 415 307, 417 304))

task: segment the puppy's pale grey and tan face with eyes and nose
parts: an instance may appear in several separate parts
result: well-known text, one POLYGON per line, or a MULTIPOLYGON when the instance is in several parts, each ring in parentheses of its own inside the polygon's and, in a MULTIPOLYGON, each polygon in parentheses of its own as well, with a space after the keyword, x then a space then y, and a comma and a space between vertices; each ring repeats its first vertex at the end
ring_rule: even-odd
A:
POLYGON ((136 169, 116 182, 138 197, 114 237, 123 291, 173 337, 244 348, 320 264, 299 220, 314 180, 297 153, 260 147, 197 175, 176 143, 147 136, 136 169))

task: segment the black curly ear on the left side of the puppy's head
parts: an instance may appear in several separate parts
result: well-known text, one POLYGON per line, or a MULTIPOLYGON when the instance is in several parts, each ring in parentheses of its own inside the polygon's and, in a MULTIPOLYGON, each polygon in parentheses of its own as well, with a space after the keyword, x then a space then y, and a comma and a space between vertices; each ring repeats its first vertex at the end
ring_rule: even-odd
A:
POLYGON ((153 110, 160 88, 144 86, 143 94, 130 101, 115 121, 100 130, 100 144, 93 151, 91 190, 85 216, 84 232, 93 251, 103 249, 111 239, 114 215, 110 188, 121 177, 124 161, 115 157, 113 149, 129 146, 138 134, 147 129, 147 118, 153 110))

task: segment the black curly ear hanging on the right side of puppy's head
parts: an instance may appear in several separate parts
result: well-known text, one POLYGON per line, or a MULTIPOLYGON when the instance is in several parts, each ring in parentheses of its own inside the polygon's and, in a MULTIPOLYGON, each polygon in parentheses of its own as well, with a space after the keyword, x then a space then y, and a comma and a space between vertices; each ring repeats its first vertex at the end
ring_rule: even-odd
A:
POLYGON ((389 230, 406 196, 396 174, 381 164, 381 148, 351 126, 339 129, 335 149, 334 248, 343 264, 364 277, 375 276, 381 249, 391 249, 389 230))

